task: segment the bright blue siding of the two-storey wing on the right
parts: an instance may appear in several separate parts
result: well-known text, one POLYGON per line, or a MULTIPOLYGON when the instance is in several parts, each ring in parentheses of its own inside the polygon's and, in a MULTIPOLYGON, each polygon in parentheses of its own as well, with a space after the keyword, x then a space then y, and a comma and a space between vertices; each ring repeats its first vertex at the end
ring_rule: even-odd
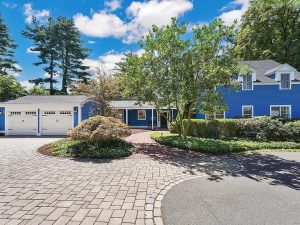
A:
MULTIPOLYGON (((222 88, 228 105, 226 118, 242 117, 242 106, 253 105, 254 116, 269 116, 270 105, 291 105, 292 118, 300 118, 300 85, 292 84, 291 90, 280 90, 279 85, 254 85, 252 91, 234 91, 222 88)), ((204 118, 197 114, 198 119, 204 118)))

